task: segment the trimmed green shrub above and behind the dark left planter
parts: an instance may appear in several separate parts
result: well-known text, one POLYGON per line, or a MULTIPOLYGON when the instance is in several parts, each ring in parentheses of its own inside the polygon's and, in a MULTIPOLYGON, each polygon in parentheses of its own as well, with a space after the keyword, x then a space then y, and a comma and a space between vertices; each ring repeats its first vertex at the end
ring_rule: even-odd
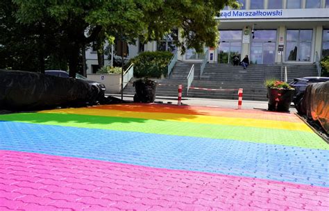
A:
POLYGON ((168 51, 146 51, 129 60, 128 65, 134 63, 135 78, 161 78, 167 76, 167 65, 172 56, 168 51))

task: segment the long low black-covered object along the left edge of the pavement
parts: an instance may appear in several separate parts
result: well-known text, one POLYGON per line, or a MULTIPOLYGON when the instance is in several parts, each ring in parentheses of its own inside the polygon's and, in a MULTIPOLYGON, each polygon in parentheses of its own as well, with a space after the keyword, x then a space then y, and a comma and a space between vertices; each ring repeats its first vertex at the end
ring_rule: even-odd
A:
POLYGON ((0 70, 0 109, 37 110, 96 103, 103 91, 74 78, 0 70))

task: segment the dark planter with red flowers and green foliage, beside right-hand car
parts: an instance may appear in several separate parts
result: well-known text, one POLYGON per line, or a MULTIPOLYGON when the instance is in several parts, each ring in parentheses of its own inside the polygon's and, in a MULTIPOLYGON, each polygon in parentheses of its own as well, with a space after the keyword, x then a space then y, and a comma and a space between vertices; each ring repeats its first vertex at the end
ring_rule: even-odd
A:
POLYGON ((294 96, 294 88, 283 81, 267 80, 267 99, 269 99, 269 110, 288 112, 294 96))

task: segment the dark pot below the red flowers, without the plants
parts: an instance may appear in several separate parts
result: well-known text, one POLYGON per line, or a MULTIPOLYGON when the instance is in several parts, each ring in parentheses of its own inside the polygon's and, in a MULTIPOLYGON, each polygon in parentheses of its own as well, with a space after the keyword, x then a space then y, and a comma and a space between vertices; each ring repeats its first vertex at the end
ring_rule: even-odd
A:
POLYGON ((267 88, 269 110, 288 112, 294 90, 267 88))

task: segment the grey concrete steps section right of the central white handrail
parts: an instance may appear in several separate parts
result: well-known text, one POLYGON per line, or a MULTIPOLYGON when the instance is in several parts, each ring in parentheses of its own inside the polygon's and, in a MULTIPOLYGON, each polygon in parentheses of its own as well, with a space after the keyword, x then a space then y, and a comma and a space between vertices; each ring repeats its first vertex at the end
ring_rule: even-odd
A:
MULTIPOLYGON (((315 65, 287 65, 288 83, 294 78, 317 76, 315 65)), ((283 69, 284 77, 284 69, 283 69)), ((244 100, 267 101, 266 79, 281 78, 280 65, 249 65, 247 69, 228 64, 207 64, 200 80, 192 83, 194 87, 210 89, 244 89, 244 100)), ((190 90, 191 97, 214 99, 237 99, 237 91, 190 90)))

